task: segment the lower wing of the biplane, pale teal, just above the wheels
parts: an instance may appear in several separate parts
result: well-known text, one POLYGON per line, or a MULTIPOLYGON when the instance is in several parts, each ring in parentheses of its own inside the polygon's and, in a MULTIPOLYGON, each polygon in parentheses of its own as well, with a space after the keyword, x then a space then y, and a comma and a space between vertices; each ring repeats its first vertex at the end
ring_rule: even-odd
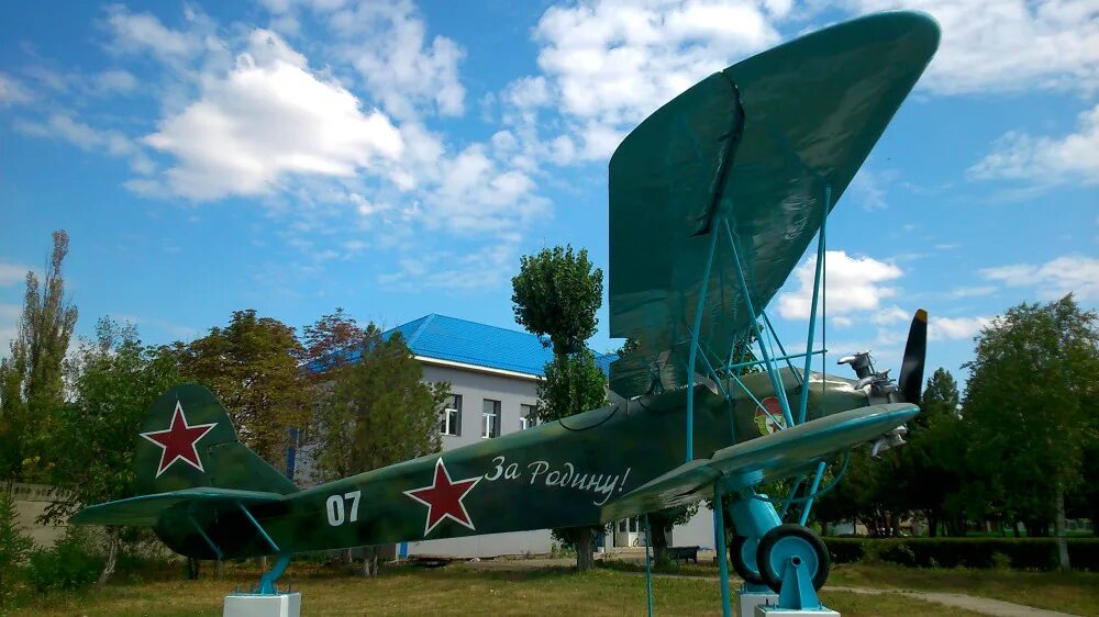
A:
POLYGON ((763 482, 807 471, 836 451, 869 441, 920 413, 910 403, 861 407, 723 448, 696 459, 602 507, 603 521, 675 507, 712 496, 721 476, 758 472, 763 482))

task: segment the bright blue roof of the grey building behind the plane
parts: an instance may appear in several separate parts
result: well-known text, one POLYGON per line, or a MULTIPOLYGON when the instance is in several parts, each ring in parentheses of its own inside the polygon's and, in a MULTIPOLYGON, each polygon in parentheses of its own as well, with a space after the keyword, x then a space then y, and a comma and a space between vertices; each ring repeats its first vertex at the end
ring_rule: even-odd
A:
MULTIPOLYGON (((553 349, 543 346, 533 334, 434 313, 386 330, 382 336, 388 338, 395 332, 401 333, 412 354, 436 360, 536 377, 542 377, 545 366, 553 360, 553 349)), ((354 362, 358 356, 356 349, 347 359, 354 362)), ((610 364, 617 359, 615 354, 597 354, 596 364, 609 374, 610 364)), ((321 367, 311 364, 310 369, 321 370, 321 367)))

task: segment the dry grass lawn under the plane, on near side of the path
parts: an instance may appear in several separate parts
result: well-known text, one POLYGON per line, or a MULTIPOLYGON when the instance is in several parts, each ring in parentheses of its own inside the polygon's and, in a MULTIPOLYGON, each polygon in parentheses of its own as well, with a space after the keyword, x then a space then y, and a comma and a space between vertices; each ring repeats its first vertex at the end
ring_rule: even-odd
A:
MULTIPOLYGON (((57 594, 24 603, 13 615, 221 615, 222 598, 237 585, 255 583, 258 571, 233 569, 224 579, 152 580, 115 583, 102 594, 57 594)), ((558 570, 475 571, 460 565, 423 570, 395 566, 377 580, 337 575, 308 564, 291 566, 281 580, 302 592, 302 615, 642 615, 644 579, 599 569, 587 574, 558 570)), ((659 615, 720 615, 713 581, 658 577, 653 581, 659 615)), ((939 605, 892 594, 828 592, 824 603, 845 616, 915 616, 942 613, 939 605)), ((976 613, 952 612, 970 616, 976 613)))

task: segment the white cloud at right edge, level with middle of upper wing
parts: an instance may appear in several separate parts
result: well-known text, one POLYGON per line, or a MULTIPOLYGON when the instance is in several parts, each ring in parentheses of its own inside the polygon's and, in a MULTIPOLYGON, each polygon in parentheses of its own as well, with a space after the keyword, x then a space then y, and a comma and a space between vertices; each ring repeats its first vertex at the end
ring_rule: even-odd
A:
MULTIPOLYGON (((1096 41, 1099 46, 1099 40, 1096 41)), ((1099 105, 1080 114, 1078 130, 1064 137, 1010 132, 992 144, 992 152, 969 168, 978 180, 1031 180, 1055 184, 1080 180, 1099 182, 1099 105)))

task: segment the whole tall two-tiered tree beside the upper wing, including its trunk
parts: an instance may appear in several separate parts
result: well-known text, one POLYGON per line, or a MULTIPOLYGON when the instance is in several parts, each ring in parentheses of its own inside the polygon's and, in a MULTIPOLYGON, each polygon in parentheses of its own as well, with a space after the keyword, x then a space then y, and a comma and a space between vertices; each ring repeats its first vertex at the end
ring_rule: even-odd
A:
MULTIPOLYGON (((571 246, 544 248, 523 256, 519 274, 511 279, 515 322, 552 346, 539 385, 539 419, 559 419, 602 406, 606 378, 584 343, 596 333, 596 311, 603 298, 603 271, 592 269, 588 251, 574 254, 571 246)), ((598 527, 555 529, 554 534, 576 546, 576 568, 591 568, 598 527)))

